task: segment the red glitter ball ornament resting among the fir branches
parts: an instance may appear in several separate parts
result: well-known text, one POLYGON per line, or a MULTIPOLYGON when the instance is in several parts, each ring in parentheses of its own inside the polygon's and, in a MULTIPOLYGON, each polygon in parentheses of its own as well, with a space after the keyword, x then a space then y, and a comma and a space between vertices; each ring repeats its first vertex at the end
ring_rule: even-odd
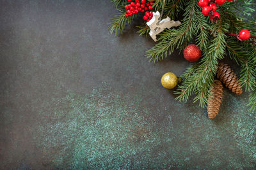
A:
POLYGON ((184 49, 184 57, 186 60, 190 62, 195 62, 200 59, 201 57, 201 50, 196 45, 188 45, 184 49))

